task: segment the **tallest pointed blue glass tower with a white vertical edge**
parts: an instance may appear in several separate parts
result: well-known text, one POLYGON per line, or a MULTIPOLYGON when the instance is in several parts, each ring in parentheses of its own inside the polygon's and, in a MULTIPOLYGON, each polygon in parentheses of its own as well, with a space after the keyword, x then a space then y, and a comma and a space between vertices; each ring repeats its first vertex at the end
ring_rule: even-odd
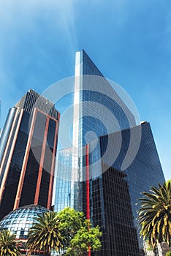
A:
POLYGON ((82 210, 86 143, 136 125, 135 118, 84 50, 76 53, 71 206, 82 210), (77 197, 79 195, 79 197, 77 197))

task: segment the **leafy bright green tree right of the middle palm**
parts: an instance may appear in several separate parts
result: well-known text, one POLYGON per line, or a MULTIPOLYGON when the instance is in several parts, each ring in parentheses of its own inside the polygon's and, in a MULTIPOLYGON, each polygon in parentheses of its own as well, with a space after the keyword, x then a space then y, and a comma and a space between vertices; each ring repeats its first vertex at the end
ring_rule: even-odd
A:
POLYGON ((91 227, 91 222, 86 220, 83 212, 67 207, 58 213, 58 219, 61 234, 66 241, 65 255, 85 255, 89 246, 91 252, 99 251, 101 248, 99 238, 102 232, 99 231, 98 226, 91 227))

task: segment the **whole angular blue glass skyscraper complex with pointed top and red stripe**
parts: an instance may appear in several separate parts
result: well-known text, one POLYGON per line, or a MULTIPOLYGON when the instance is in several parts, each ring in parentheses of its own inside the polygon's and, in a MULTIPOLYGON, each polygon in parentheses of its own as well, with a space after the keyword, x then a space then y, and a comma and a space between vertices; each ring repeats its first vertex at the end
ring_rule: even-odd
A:
MULTIPOLYGON (((150 125, 136 123, 133 113, 86 52, 76 53, 73 148, 60 151, 56 210, 74 207, 102 228, 99 255, 139 255, 133 231, 137 227, 135 204, 140 192, 159 182, 164 182, 164 175, 150 125), (123 211, 129 196, 131 208, 127 206, 126 216, 123 211), (117 223, 124 227, 117 228, 117 223), (128 238, 126 227, 134 236, 128 238), (120 229, 125 231, 121 234, 120 229), (116 246, 115 239, 122 238, 123 244, 118 242, 116 246), (132 243, 134 248, 130 247, 132 243), (123 247, 118 249, 121 244, 123 247)), ((142 249, 141 241, 139 246, 142 249)))

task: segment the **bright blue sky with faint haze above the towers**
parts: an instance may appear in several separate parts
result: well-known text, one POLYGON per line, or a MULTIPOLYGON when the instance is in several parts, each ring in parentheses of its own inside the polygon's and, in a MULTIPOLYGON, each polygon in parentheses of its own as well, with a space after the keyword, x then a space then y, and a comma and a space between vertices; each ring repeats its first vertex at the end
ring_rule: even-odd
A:
POLYGON ((151 123, 170 179, 170 0, 0 0, 0 126, 28 89, 73 76, 82 48, 151 123))

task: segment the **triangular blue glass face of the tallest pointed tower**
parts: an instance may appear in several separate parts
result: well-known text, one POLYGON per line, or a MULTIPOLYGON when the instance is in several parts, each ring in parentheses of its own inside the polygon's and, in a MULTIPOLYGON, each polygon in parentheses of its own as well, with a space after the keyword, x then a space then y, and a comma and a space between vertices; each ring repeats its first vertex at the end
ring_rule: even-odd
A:
POLYGON ((76 58, 76 64, 80 65, 76 78, 76 82, 78 78, 79 81, 75 86, 75 90, 79 91, 79 129, 73 138, 78 137, 81 148, 96 137, 133 127, 136 122, 131 111, 86 52, 82 50, 76 58), (88 131, 94 132, 94 136, 91 133, 90 138, 86 137, 88 131))

